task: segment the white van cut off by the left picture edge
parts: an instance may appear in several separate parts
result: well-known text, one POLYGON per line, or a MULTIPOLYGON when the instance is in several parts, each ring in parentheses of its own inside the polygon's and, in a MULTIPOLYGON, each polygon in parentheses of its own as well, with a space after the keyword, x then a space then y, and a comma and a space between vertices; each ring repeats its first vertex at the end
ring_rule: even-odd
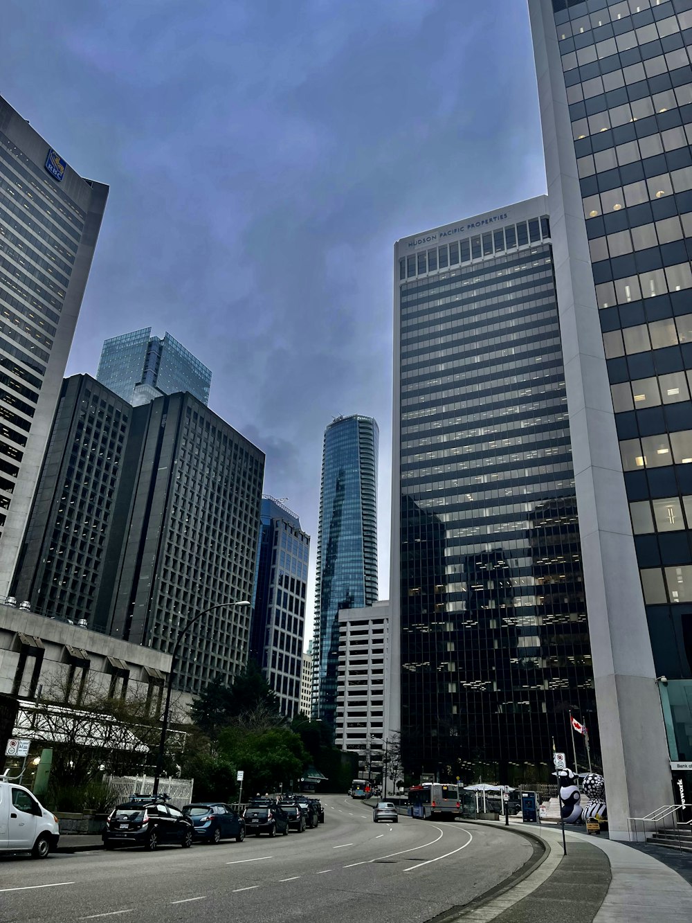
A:
POLYGON ((28 788, 0 775, 0 850, 44 859, 58 845, 54 813, 43 808, 28 788))

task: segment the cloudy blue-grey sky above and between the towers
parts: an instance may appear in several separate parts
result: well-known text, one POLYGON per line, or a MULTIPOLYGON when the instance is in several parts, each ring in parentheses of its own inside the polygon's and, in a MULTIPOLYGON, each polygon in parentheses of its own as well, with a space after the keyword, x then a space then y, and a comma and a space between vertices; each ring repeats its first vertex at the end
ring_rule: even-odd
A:
POLYGON ((111 186, 68 374, 170 330, 313 536, 322 437, 380 428, 392 245, 544 191, 523 0, 4 0, 0 93, 111 186))

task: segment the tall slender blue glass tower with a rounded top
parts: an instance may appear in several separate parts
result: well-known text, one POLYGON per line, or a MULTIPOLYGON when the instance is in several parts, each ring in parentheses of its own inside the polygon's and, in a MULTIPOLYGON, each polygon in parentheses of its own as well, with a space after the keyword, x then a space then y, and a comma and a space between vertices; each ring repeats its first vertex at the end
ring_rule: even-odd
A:
POLYGON ((334 727, 339 610, 377 599, 377 443, 372 417, 339 416, 325 430, 316 573, 314 716, 334 727))

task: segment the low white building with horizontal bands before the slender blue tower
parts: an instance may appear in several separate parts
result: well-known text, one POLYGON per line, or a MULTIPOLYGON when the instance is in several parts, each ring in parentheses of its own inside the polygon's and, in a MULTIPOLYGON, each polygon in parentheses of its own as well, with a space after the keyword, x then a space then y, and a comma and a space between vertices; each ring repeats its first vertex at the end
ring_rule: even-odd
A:
POLYGON ((383 772, 388 738, 389 604, 339 613, 335 743, 358 753, 365 778, 383 772))

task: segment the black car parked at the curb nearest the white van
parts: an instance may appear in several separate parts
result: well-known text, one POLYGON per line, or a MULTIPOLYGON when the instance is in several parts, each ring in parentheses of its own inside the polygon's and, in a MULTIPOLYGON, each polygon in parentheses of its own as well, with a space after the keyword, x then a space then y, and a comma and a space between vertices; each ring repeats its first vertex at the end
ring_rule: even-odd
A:
POLYGON ((192 845, 195 827, 189 817, 166 804, 165 796, 133 795, 113 808, 101 839, 106 849, 118 845, 144 846, 149 851, 164 843, 192 845))

